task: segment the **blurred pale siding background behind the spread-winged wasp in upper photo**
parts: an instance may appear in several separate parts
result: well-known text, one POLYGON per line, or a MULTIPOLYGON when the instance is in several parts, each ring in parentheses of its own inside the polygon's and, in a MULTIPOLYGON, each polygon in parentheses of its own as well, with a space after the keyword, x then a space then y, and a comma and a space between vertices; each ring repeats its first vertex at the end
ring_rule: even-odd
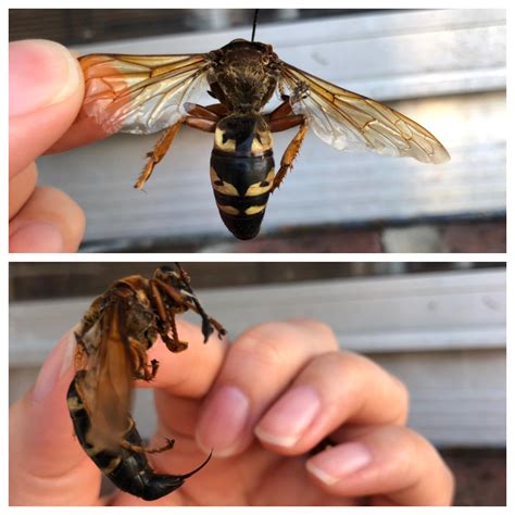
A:
MULTIPOLYGON (((205 52, 250 38, 252 16, 224 9, 11 10, 10 38, 54 39, 79 54, 205 52)), ((40 184, 85 209, 84 251, 505 251, 504 10, 263 10, 256 39, 416 120, 451 162, 343 153, 310 135, 268 203, 262 235, 237 242, 211 190, 211 135, 181 130, 147 194, 133 184, 156 136, 117 135, 38 163, 40 184)), ((277 161, 293 134, 275 135, 277 161)))

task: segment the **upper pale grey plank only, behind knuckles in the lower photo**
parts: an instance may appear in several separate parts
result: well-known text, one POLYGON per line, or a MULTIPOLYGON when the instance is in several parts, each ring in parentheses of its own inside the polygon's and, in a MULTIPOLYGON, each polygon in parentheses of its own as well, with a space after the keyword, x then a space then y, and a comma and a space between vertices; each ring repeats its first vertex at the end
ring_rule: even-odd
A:
MULTIPOLYGON (((199 294, 233 338, 264 321, 307 316, 329 324, 343 348, 360 352, 503 348, 506 341, 505 272, 499 269, 218 288, 199 294)), ((39 364, 90 302, 12 303, 10 363, 39 364)))

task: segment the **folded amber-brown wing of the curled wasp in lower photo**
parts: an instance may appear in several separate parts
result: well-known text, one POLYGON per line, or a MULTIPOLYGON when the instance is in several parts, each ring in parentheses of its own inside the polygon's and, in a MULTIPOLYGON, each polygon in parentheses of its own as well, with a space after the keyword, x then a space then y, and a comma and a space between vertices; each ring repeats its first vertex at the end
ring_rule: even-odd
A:
POLYGON ((123 306, 108 306, 93 330, 98 352, 90 356, 81 385, 91 420, 88 440, 114 448, 127 430, 133 388, 129 346, 123 335, 123 306))

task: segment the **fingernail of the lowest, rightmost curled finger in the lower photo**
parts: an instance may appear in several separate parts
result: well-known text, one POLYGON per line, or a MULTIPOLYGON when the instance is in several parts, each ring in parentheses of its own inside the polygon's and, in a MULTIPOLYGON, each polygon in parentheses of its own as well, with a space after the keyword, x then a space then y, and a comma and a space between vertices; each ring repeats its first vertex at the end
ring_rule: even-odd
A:
POLYGON ((326 485, 335 485, 372 463, 363 443, 342 443, 327 449, 306 462, 306 468, 326 485))

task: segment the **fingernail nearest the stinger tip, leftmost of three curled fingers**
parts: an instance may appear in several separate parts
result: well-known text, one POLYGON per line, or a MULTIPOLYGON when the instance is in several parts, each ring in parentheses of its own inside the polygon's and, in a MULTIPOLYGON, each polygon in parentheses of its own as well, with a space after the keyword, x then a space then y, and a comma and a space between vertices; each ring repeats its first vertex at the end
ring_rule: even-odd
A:
POLYGON ((221 387, 208 401, 197 426, 197 442, 213 455, 230 456, 243 436, 250 402, 247 395, 234 386, 221 387))

